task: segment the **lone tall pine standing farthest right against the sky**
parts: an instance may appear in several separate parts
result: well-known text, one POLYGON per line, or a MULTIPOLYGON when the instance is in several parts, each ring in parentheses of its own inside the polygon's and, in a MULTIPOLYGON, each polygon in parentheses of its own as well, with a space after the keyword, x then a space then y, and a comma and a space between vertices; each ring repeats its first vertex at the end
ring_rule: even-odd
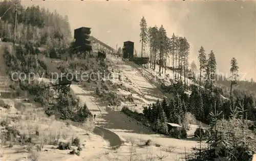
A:
POLYGON ((230 97, 232 96, 232 87, 233 85, 237 84, 237 79, 238 79, 238 62, 236 58, 232 58, 230 62, 231 68, 230 68, 230 73, 231 73, 231 83, 230 83, 230 97))

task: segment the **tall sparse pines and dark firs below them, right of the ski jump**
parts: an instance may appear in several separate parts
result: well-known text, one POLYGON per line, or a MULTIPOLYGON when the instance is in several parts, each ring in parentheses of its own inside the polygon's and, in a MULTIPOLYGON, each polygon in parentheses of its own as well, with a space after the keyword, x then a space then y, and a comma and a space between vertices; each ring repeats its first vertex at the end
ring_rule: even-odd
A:
MULTIPOLYGON (((223 77, 223 81, 217 79, 217 61, 214 50, 207 52, 204 47, 201 46, 198 50, 198 60, 200 62, 199 69, 195 62, 188 63, 189 56, 189 42, 186 37, 180 37, 173 33, 172 37, 167 37, 166 31, 163 25, 158 28, 156 25, 153 27, 147 27, 146 20, 142 17, 140 22, 140 42, 142 47, 141 55, 145 52, 145 46, 150 47, 150 68, 156 70, 156 64, 159 65, 159 74, 164 74, 167 68, 171 68, 174 72, 174 79, 177 84, 166 87, 170 89, 170 92, 174 93, 175 97, 170 100, 170 107, 178 108, 178 118, 168 118, 167 121, 182 123, 184 114, 186 112, 195 115, 197 120, 200 120, 206 124, 210 123, 210 112, 214 110, 214 107, 218 111, 222 111, 224 118, 228 118, 230 115, 230 106, 239 106, 239 102, 243 102, 243 108, 246 111, 246 117, 249 120, 256 121, 256 109, 255 109, 255 93, 253 90, 241 90, 234 89, 238 85, 241 88, 253 88, 256 83, 239 81, 239 63, 236 58, 230 60, 230 77, 223 77), (167 67, 166 60, 170 58, 172 60, 171 66, 167 67), (189 67, 190 66, 190 67, 189 67), (199 77, 189 77, 188 72, 199 72, 199 77), (188 77, 197 83, 196 85, 188 85, 187 80, 182 81, 182 76, 188 77), (226 89, 223 86, 226 86, 226 89), (190 91, 188 95, 186 91, 190 91), (223 97, 226 96, 226 98, 223 97), (178 103, 177 103, 178 102, 178 103), (182 110, 183 109, 183 110, 182 110), (182 112, 183 111, 183 112, 182 112)), ((154 105, 153 105, 154 106, 154 105)), ((169 116, 170 112, 163 108, 165 116, 169 116)), ((150 109, 153 107, 151 106, 150 109)), ((154 109, 154 108, 153 108, 154 109)), ((160 110, 161 111, 161 110, 160 110)), ((172 116, 172 115, 171 115, 172 116)), ((156 121, 158 118, 153 119, 156 121)))

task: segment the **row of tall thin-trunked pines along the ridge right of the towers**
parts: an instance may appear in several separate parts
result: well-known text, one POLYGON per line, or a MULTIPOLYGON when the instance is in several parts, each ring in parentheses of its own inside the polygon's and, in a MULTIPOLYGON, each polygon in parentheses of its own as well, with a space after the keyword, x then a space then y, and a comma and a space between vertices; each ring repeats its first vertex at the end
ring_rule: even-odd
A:
MULTIPOLYGON (((247 95, 256 99, 256 83, 253 80, 250 82, 239 81, 239 75, 237 74, 239 72, 239 63, 236 58, 230 60, 230 76, 222 78, 222 76, 217 75, 218 62, 216 62, 213 49, 205 51, 203 46, 198 49, 200 63, 199 67, 197 67, 194 61, 189 64, 190 46, 186 37, 180 37, 175 33, 173 33, 172 37, 168 37, 163 25, 160 28, 156 25, 147 27, 144 17, 141 19, 140 29, 141 56, 145 55, 145 47, 150 47, 150 67, 155 70, 156 64, 158 64, 160 75, 165 75, 166 69, 169 68, 174 71, 173 77, 175 81, 185 76, 210 91, 212 91, 213 86, 216 86, 220 93, 227 98, 232 94, 233 97, 247 95), (170 66, 166 61, 168 59, 170 60, 170 66), (191 73, 194 73, 194 76, 191 73), (217 79, 217 77, 221 78, 217 79)), ((183 81, 183 86, 188 90, 188 81, 183 81)))

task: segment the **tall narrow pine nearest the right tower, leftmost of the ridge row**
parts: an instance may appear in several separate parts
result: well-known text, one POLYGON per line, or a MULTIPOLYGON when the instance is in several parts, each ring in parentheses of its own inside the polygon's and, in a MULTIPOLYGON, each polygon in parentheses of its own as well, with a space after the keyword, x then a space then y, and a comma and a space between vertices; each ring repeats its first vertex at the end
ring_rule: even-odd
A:
POLYGON ((141 18, 141 21, 140 21, 140 31, 141 31, 140 42, 141 42, 141 57, 142 57, 143 51, 145 50, 145 46, 146 46, 146 43, 148 40, 147 24, 146 24, 146 19, 144 18, 144 16, 141 18))

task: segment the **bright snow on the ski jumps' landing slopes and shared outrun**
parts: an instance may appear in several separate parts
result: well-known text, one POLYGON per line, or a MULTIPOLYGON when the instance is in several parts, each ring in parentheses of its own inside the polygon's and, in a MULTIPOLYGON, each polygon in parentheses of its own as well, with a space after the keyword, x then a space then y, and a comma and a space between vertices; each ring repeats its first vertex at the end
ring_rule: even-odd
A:
MULTIPOLYGON (((107 56, 110 60, 110 56, 107 56)), ((162 92, 151 82, 149 82, 141 73, 134 67, 130 66, 126 63, 120 63, 119 60, 118 68, 120 69, 121 80, 118 79, 118 74, 114 74, 115 82, 118 84, 123 84, 125 87, 131 88, 131 91, 124 91, 119 89, 117 94, 123 95, 127 97, 132 94, 135 103, 123 103, 123 105, 128 105, 129 108, 134 110, 141 110, 143 104, 148 104, 151 102, 155 102, 159 97, 162 96, 162 92)), ((111 66, 110 66, 111 68, 111 66)), ((117 71, 117 59, 112 58, 112 68, 114 71, 117 71)), ((89 110, 92 114, 96 115, 95 123, 103 128, 110 129, 115 132, 118 136, 120 136, 126 142, 120 149, 115 152, 110 151, 108 153, 99 155, 98 158, 94 158, 92 160, 111 160, 114 158, 119 158, 120 160, 125 160, 129 151, 131 149, 131 141, 135 142, 134 155, 144 156, 146 153, 154 153, 154 155, 160 155, 160 149, 164 147, 171 148, 173 147, 173 152, 165 152, 162 150, 162 155, 167 156, 167 160, 175 160, 176 157, 184 156, 184 151, 191 152, 191 147, 195 147, 197 142, 194 140, 178 140, 174 138, 168 138, 164 136, 157 135, 155 132, 147 129, 136 120, 126 116, 117 110, 117 107, 108 106, 108 102, 101 102, 99 98, 97 98, 93 91, 85 91, 81 86, 71 85, 72 92, 76 94, 81 102, 87 104, 89 110), (152 146, 150 147, 141 147, 138 144, 145 144, 147 139, 151 139, 153 141, 152 146), (161 148, 160 148, 161 146, 161 148)), ((120 110, 120 109, 119 109, 120 110)))

